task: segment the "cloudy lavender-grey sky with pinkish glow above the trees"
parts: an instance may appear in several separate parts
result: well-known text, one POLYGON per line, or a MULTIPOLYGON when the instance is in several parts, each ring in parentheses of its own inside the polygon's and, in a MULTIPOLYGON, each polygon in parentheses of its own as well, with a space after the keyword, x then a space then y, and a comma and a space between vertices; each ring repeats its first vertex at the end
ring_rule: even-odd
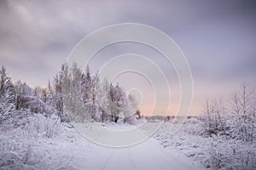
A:
MULTIPOLYGON (((256 85, 256 3, 253 1, 0 1, 0 65, 13 81, 46 86, 75 45, 92 31, 120 23, 154 26, 177 43, 194 80, 190 114, 201 113, 206 99, 229 98, 242 82, 256 85)), ((96 54, 96 72, 119 54, 154 60, 171 87, 172 105, 180 99, 172 66, 152 48, 124 42, 96 54)), ((121 65, 119 65, 121 66, 121 65)), ((143 113, 152 107, 152 89, 143 78, 117 78, 125 88, 141 89, 143 113), (129 86, 128 84, 136 84, 129 86)), ((136 90, 133 90, 136 91, 136 90)), ((163 114, 161 112, 160 114, 163 114)))

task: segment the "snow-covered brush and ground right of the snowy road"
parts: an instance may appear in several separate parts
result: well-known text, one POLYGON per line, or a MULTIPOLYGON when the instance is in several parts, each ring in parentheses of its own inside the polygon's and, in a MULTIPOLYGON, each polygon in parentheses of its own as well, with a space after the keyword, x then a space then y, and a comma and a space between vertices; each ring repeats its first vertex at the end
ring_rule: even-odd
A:
POLYGON ((225 136, 206 137, 201 121, 184 123, 177 133, 170 127, 180 126, 165 122, 154 134, 165 150, 182 152, 193 161, 209 169, 256 169, 256 143, 245 143, 225 136))

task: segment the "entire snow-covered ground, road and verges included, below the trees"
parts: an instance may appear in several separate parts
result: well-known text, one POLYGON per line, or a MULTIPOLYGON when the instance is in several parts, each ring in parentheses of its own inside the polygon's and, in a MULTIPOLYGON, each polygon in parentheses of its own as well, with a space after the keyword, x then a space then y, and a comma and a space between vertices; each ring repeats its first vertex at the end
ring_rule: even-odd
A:
POLYGON ((255 142, 206 137, 197 119, 164 122, 154 135, 158 122, 74 128, 57 120, 34 115, 21 119, 19 127, 2 126, 11 127, 0 133, 0 169, 256 169, 255 142), (173 133, 172 127, 180 128, 173 133))

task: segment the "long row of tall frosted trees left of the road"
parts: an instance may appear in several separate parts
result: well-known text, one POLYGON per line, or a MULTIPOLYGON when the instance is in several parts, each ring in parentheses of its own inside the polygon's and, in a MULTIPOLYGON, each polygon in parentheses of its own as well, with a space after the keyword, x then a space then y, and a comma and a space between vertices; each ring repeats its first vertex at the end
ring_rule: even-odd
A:
POLYGON ((61 65, 47 88, 31 88, 26 82, 11 81, 4 66, 0 71, 0 123, 16 123, 32 114, 57 115, 61 122, 136 122, 137 100, 119 84, 83 72, 73 63, 61 65))

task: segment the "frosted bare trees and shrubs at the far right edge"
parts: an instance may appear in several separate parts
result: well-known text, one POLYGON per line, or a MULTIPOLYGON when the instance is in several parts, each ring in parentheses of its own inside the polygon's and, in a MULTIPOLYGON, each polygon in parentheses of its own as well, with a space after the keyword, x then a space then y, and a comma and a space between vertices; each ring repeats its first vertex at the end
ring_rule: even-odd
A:
POLYGON ((204 121, 205 133, 209 136, 222 135, 253 143, 256 137, 255 88, 243 83, 228 103, 222 99, 207 101, 204 121))

